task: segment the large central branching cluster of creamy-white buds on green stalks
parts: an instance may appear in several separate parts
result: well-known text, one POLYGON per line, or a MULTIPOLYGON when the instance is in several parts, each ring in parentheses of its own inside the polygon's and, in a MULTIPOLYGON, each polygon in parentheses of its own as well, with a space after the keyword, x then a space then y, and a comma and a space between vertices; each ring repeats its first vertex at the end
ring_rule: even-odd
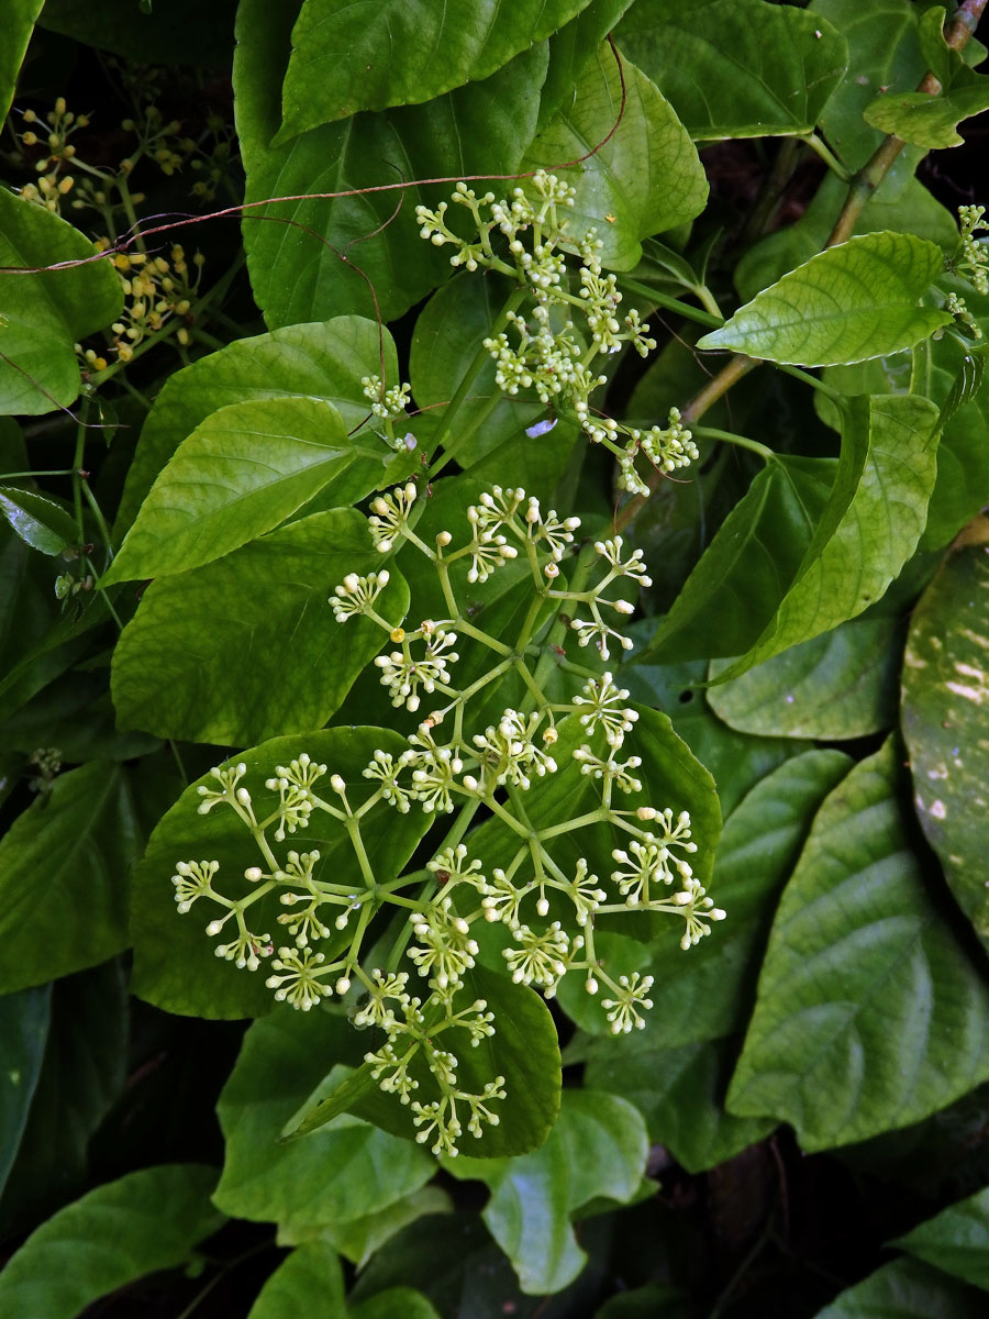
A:
POLYGON ((566 975, 579 973, 591 995, 604 988, 601 1006, 618 1033, 644 1024, 651 980, 612 977, 599 964, 596 922, 618 911, 669 913, 683 922, 686 950, 724 913, 694 874, 690 815, 644 793, 641 758, 629 754, 640 714, 628 692, 611 671, 568 661, 559 644, 570 629, 604 661, 613 645, 629 645, 617 625, 634 607, 626 596, 649 584, 641 551, 628 553, 616 536, 572 557, 578 520, 542 509, 522 489, 483 493, 467 508, 456 546, 448 530, 435 533, 433 543, 418 534, 422 508, 410 481, 373 501, 368 529, 382 554, 404 550, 429 561, 446 616, 413 625, 394 616, 386 604, 388 568, 345 576, 331 605, 342 625, 361 617, 381 630, 380 682, 393 707, 417 718, 426 711, 425 718, 401 751, 376 749, 351 781, 299 752, 265 781, 264 810, 256 799, 261 785, 245 781, 245 765, 214 770, 214 785, 199 789, 199 810, 232 811, 253 835, 257 864, 244 872, 247 890, 239 898, 224 894, 214 860, 179 861, 173 884, 179 911, 204 900, 218 913, 207 925, 220 940, 218 956, 249 971, 266 962, 276 998, 307 1010, 334 991, 360 987, 353 1024, 384 1033, 367 1054, 375 1079, 409 1105, 418 1140, 452 1154, 464 1125, 480 1136, 485 1124, 497 1124, 496 1105, 505 1097, 501 1076, 472 1089, 458 1080, 455 1050, 497 1030, 488 1004, 464 981, 481 958, 479 931, 488 925, 504 931, 505 946, 500 954, 488 948, 488 964, 500 960, 516 984, 553 996, 566 975), (476 627, 460 603, 464 584, 483 586, 498 572, 513 574, 529 598, 508 641, 476 627), (471 681, 458 677, 467 649, 477 673, 471 681), (563 695, 562 682, 570 685, 563 695), (501 683, 516 694, 514 703, 473 721, 472 710, 484 703, 491 711, 501 683), (541 793, 560 778, 568 786, 547 811, 541 793), (430 816, 435 847, 425 867, 375 873, 361 830, 382 803, 401 815, 430 816), (286 849, 289 836, 303 835, 316 813, 349 840, 349 869, 338 855, 332 876, 323 874, 318 849, 286 849), (469 832, 481 820, 483 830, 469 832), (501 830, 496 857, 475 843, 493 826, 501 830), (596 838, 600 860, 601 831, 621 845, 609 844, 611 859, 593 873, 582 838, 596 838), (268 894, 284 909, 281 938, 252 917, 268 894), (386 964, 367 967, 368 931, 385 909, 400 913, 402 931, 386 964))

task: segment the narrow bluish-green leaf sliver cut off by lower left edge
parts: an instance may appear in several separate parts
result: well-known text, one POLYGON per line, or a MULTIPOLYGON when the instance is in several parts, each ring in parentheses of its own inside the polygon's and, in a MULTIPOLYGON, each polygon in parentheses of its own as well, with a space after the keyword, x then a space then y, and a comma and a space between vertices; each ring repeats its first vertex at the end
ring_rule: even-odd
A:
POLYGON ((51 987, 40 985, 0 998, 0 1194, 28 1125, 41 1075, 51 1012, 51 987))

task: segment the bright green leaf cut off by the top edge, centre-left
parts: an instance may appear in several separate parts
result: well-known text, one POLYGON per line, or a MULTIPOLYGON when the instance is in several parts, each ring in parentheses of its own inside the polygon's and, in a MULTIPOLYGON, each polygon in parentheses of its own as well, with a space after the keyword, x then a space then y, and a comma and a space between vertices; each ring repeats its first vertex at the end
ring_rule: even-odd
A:
POLYGON ((305 0, 291 33, 278 146, 361 109, 433 100, 480 82, 551 36, 588 0, 305 0), (400 50, 401 59, 389 51, 400 50))

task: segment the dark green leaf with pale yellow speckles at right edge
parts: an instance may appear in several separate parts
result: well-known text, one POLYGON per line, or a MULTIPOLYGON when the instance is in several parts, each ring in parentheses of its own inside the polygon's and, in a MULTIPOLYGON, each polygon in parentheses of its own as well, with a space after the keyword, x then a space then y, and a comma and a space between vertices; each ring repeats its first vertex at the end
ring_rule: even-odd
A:
POLYGON ((989 947, 989 522, 945 559, 914 611, 903 660, 903 736, 927 842, 989 947))

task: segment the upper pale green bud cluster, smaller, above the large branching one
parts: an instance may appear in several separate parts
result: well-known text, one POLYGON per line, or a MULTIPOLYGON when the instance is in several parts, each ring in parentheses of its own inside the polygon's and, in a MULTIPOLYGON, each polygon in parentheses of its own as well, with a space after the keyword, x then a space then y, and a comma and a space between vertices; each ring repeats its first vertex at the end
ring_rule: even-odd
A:
POLYGON ((512 396, 533 389, 541 402, 570 412, 593 443, 614 454, 621 488, 646 495, 649 487, 636 467, 640 456, 669 474, 696 460, 698 448, 675 409, 666 427, 641 430, 599 417, 591 406, 592 392, 607 383, 595 359, 617 352, 625 343, 646 356, 655 340, 634 307, 621 315, 622 294, 616 276, 601 269, 603 244, 596 231, 580 237, 568 232, 567 212, 575 198, 568 183, 539 170, 527 191, 516 187, 506 200, 497 200, 493 193, 477 197, 473 189, 458 183, 452 202, 471 212, 475 233, 469 239, 460 237, 447 223, 446 202, 435 211, 419 206, 415 216, 423 239, 454 248, 451 265, 497 270, 529 295, 525 315, 513 309, 505 313, 513 338, 500 331, 484 340, 496 363, 498 388, 512 396), (567 251, 580 259, 574 286, 567 251))

